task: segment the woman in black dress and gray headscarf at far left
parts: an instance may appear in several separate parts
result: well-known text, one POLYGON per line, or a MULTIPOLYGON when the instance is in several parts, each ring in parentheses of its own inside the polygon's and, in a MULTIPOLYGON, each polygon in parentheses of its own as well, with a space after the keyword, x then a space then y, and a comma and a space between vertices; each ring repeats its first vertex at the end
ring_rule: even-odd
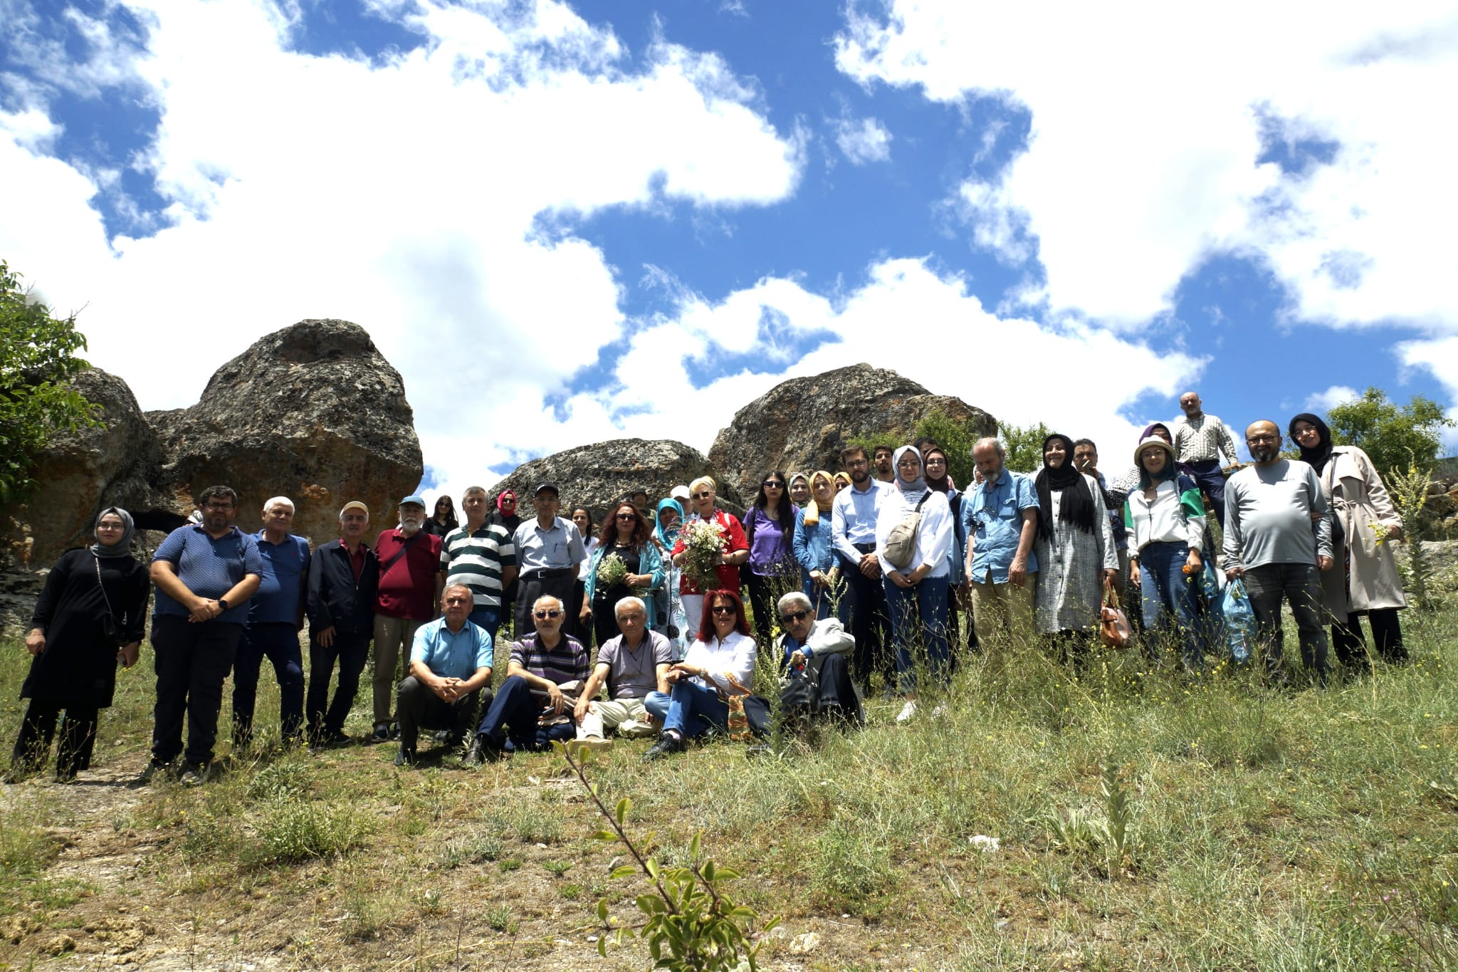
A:
POLYGON ((34 657, 20 698, 31 705, 6 783, 45 765, 57 720, 55 781, 70 783, 90 768, 98 711, 111 707, 117 665, 137 663, 146 624, 150 587, 147 568, 131 557, 134 532, 130 513, 115 506, 102 510, 96 542, 63 554, 45 579, 25 638, 34 657))

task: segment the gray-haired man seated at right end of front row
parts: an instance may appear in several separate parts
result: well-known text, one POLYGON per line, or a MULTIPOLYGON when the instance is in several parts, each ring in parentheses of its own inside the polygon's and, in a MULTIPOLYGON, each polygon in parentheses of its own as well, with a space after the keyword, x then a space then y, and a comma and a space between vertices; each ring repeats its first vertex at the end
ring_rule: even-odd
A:
POLYGON ((789 683, 780 694, 780 711, 786 720, 808 721, 824 716, 833 721, 865 723, 860 697, 846 659, 856 641, 846 634, 840 619, 815 619, 815 609, 803 592, 792 590, 780 597, 780 670, 789 683))

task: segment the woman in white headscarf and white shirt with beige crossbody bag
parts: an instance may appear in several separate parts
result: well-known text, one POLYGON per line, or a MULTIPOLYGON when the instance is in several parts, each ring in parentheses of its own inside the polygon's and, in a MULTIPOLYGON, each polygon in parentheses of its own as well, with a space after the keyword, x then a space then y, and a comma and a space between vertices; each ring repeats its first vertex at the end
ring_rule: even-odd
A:
POLYGON ((924 650, 933 678, 949 676, 948 647, 948 579, 951 567, 946 552, 952 545, 952 512, 946 495, 932 490, 921 474, 921 453, 913 446, 901 446, 891 456, 897 478, 884 490, 876 507, 876 558, 881 561, 882 584, 886 592, 886 612, 891 615, 891 638, 897 646, 897 672, 905 705, 898 723, 916 714, 916 672, 913 651, 924 650), (916 541, 910 560, 897 567, 888 551, 892 530, 916 514, 916 541))

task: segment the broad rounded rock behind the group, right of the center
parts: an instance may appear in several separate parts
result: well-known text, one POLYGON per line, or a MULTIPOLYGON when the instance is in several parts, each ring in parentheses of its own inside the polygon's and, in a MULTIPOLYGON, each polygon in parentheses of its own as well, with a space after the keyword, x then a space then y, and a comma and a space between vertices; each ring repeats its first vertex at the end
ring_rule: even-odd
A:
POLYGON ((741 408, 714 439, 709 462, 752 503, 765 472, 834 472, 850 440, 905 442, 927 415, 970 421, 978 434, 997 434, 991 415, 959 398, 932 395, 888 369, 851 364, 781 382, 741 408))

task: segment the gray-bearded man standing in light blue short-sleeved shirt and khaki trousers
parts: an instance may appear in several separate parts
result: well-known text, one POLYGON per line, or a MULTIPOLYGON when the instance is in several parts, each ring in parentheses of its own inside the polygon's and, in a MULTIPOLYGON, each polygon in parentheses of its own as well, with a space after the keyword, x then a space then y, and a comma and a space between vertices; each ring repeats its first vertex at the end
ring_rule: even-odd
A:
POLYGON ((981 477, 962 498, 967 533, 967 583, 972 590, 977 641, 990 646, 1010 632, 1032 635, 1032 586, 1038 557, 1038 491, 1032 478, 1006 466, 1007 450, 997 439, 978 439, 972 462, 981 477))

